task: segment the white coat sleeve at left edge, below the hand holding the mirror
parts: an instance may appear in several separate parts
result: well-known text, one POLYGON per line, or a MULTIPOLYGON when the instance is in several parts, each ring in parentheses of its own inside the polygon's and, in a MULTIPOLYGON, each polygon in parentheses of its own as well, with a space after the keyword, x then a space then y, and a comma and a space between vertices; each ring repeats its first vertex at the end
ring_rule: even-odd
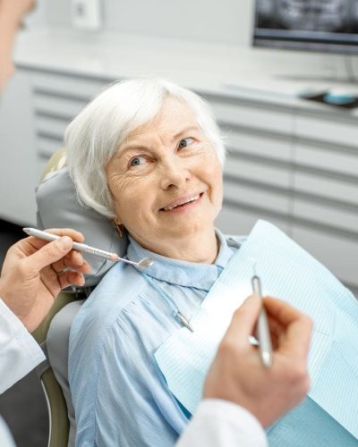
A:
POLYGON ((0 394, 43 360, 38 343, 0 299, 0 394))

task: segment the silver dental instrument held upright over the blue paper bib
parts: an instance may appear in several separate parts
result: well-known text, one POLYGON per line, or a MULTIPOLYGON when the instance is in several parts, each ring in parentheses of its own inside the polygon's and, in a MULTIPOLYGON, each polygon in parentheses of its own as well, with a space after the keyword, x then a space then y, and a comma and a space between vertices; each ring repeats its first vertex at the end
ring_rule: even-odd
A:
MULTIPOLYGON (((252 291, 262 298, 261 283, 260 278, 257 274, 252 276, 251 279, 252 291)), ((260 310, 260 315, 257 323, 257 336, 260 342, 260 358, 262 360, 264 367, 271 367, 272 365, 272 345, 271 338, 268 329, 268 317, 266 315, 266 310, 262 306, 260 310)))

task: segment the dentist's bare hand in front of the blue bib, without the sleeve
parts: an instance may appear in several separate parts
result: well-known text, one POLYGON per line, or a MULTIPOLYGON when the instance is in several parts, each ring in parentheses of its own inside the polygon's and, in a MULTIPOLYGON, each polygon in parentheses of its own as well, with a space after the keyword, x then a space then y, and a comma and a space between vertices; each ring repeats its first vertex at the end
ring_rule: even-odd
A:
POLYGON ((233 401, 270 426, 303 400, 310 387, 307 356, 312 323, 286 302, 263 299, 273 345, 272 367, 263 367, 249 343, 261 299, 251 295, 234 313, 209 370, 204 398, 233 401))

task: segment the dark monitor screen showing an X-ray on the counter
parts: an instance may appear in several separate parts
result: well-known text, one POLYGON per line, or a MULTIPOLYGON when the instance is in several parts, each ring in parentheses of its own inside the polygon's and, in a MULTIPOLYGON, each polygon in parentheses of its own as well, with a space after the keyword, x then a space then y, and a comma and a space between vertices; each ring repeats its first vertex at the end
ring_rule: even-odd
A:
POLYGON ((358 0, 256 0, 253 45, 358 54, 358 0))

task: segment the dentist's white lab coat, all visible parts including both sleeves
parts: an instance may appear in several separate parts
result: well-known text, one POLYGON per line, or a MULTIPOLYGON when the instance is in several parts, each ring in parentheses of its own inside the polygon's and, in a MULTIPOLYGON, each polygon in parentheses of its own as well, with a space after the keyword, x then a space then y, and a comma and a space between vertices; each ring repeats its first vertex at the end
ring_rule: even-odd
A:
MULTIPOLYGON (((0 393, 15 384, 45 359, 38 343, 0 299, 0 393)), ((13 446, 0 417, 0 439, 13 446)), ((267 447, 258 420, 246 409, 228 401, 205 400, 176 447, 267 447)))

